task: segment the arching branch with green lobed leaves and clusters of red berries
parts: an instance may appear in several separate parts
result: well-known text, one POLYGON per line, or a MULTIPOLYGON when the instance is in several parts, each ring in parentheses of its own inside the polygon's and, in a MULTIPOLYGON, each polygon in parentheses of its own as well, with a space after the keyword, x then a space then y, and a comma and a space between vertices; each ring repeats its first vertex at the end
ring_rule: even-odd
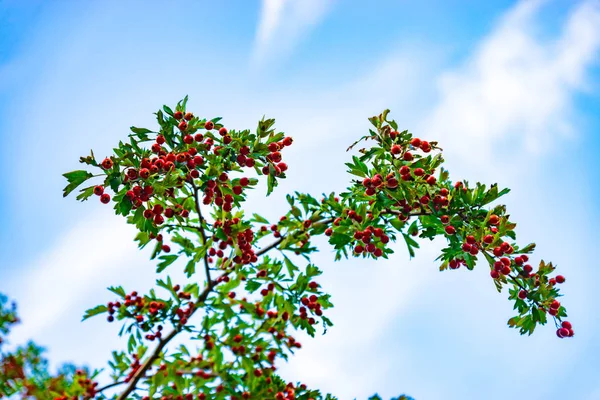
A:
MULTIPOLYGON (((440 270, 473 269, 483 258, 497 290, 509 287, 518 313, 510 327, 531 334, 548 313, 557 327, 562 323, 559 336, 573 335, 557 300, 564 278, 550 277, 554 266, 543 261, 534 272, 527 254, 535 245, 520 247, 506 207, 491 205, 508 189, 452 182, 437 142, 399 132, 389 110, 370 118, 373 129, 348 149, 370 145, 346 164, 353 176, 346 191, 320 200, 290 194, 289 211, 269 221, 243 203, 260 179, 268 196, 286 178, 282 157, 293 140, 276 132, 274 119, 263 118, 254 133, 234 131, 221 118, 200 118, 186 107, 187 97, 174 109, 158 110, 155 131, 131 127, 128 141, 102 162, 93 153, 82 157, 97 175, 64 176, 65 195, 99 178, 77 199, 95 194, 112 202, 115 214, 138 230, 138 246, 150 246, 156 272, 181 266, 187 281, 167 276, 145 294, 109 288, 117 298, 91 308, 84 319, 106 315, 128 337, 127 350, 114 352, 108 363, 110 383, 97 388, 85 371, 80 379, 63 374, 56 378, 60 385, 39 398, 103 398, 114 387, 117 399, 334 399, 284 381, 275 367, 301 348, 294 332, 314 336, 333 325, 326 315, 331 297, 311 262, 317 251, 311 241, 319 235, 328 237, 336 260, 388 258, 404 244, 414 257, 419 239, 443 236, 440 270), (175 348, 175 337, 189 340, 175 348)), ((29 390, 27 374, 17 375, 0 394, 29 390)), ((54 378, 35 379, 49 384, 54 378)))

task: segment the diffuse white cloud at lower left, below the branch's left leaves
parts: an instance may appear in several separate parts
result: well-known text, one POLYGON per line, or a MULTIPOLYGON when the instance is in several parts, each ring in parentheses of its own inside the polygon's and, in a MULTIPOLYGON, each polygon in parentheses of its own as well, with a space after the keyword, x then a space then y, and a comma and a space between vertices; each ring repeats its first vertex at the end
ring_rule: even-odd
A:
POLYGON ((134 229, 120 222, 103 213, 90 215, 57 237, 33 266, 22 268, 26 276, 11 277, 10 293, 18 299, 19 314, 26 321, 15 328, 16 336, 40 337, 66 313, 93 306, 80 301, 90 290, 103 290, 99 284, 118 276, 138 253, 132 241, 134 229))

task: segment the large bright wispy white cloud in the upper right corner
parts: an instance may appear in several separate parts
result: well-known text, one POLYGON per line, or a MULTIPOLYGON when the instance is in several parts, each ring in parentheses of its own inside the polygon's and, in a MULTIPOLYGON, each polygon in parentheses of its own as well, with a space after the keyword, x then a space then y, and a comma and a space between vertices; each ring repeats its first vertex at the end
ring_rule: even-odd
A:
POLYGON ((463 66, 440 77, 440 102, 420 131, 448 154, 483 166, 539 155, 575 135, 572 100, 598 59, 600 6, 579 4, 559 37, 543 39, 535 37, 541 5, 519 3, 463 66), (508 141, 510 149, 496 150, 508 141))

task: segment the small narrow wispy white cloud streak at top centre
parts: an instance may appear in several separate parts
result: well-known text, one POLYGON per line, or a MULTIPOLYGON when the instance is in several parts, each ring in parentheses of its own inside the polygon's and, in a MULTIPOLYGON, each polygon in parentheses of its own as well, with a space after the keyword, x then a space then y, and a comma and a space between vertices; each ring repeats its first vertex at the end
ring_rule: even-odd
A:
POLYGON ((263 0, 253 67, 285 57, 325 17, 332 0, 263 0))

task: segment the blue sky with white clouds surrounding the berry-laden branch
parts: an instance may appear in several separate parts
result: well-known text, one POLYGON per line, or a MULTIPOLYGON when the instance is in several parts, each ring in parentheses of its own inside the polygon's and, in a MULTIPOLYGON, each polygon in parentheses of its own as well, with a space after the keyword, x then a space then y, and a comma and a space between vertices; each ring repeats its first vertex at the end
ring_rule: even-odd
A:
MULTIPOLYGON (((600 399, 600 2, 0 0, 0 292, 19 303, 14 343, 53 365, 101 367, 118 327, 84 310, 154 282, 149 252, 99 202, 63 199, 61 174, 110 154, 131 125, 186 94, 195 114, 294 137, 285 194, 343 190, 345 149, 368 117, 438 140, 455 180, 499 183, 532 260, 564 274, 576 336, 521 337, 485 264, 439 272, 442 241, 409 260, 314 261, 336 324, 281 368, 340 399, 600 399), (418 3, 418 4, 416 4, 418 3)), ((325 244, 324 242, 321 242, 325 244)))

